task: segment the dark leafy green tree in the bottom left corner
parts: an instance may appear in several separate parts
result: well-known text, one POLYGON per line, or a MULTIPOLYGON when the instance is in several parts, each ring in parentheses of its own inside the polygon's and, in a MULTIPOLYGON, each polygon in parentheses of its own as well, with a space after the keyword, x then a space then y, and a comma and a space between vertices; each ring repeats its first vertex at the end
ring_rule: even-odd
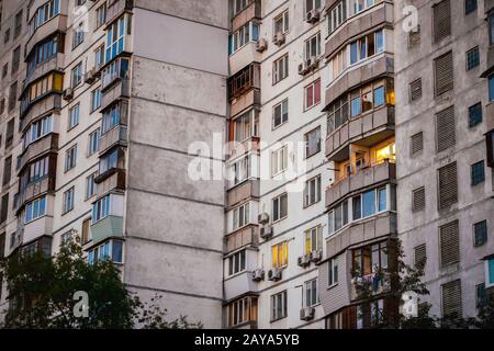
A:
MULTIPOLYGON (((125 288, 119 269, 110 261, 88 264, 78 239, 50 258, 38 251, 18 252, 0 261, 9 290, 5 328, 202 328, 187 317, 167 321, 161 296, 143 303, 125 288), (76 292, 88 296, 88 317, 75 314, 76 292)), ((80 309, 80 308, 79 308, 80 309)))

